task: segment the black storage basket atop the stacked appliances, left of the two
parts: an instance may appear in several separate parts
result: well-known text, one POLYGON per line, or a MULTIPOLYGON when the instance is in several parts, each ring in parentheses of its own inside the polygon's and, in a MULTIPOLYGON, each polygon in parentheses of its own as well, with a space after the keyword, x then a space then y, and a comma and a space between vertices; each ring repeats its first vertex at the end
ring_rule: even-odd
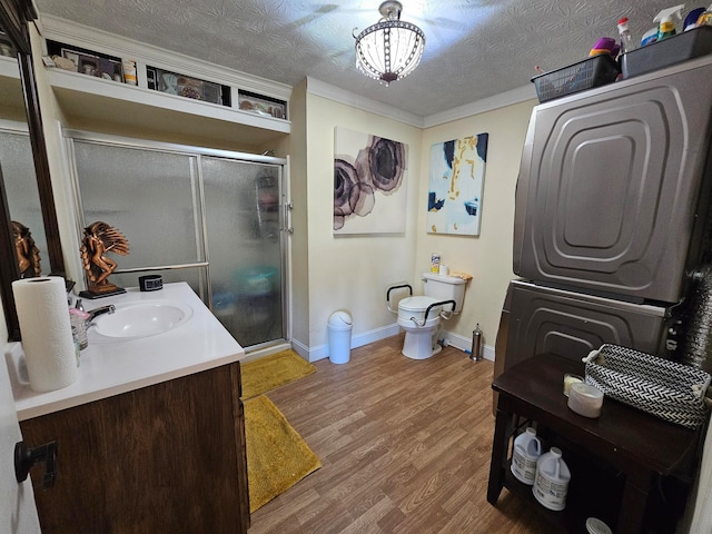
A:
POLYGON ((540 102, 565 97, 615 81, 621 73, 619 63, 607 53, 594 56, 568 67, 535 76, 532 82, 540 102))

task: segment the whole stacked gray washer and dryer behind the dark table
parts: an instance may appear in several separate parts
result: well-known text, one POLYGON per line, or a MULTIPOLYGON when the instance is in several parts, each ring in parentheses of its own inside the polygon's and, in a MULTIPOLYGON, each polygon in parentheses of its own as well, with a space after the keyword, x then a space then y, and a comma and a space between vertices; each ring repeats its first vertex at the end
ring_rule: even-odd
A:
POLYGON ((534 107, 495 376, 605 343, 708 365, 711 80, 708 56, 534 107))

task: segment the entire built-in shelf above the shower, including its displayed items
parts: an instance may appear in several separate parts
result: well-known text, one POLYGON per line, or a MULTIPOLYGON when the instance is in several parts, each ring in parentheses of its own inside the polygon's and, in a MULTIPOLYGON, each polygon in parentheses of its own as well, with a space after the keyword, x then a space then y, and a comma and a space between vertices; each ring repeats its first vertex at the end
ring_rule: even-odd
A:
POLYGON ((62 19, 42 22, 51 58, 48 81, 70 121, 188 130, 254 147, 291 131, 288 86, 109 33, 89 33, 62 19), (251 98, 251 109, 239 106, 244 96, 251 98), (261 110, 270 106, 274 112, 261 110))

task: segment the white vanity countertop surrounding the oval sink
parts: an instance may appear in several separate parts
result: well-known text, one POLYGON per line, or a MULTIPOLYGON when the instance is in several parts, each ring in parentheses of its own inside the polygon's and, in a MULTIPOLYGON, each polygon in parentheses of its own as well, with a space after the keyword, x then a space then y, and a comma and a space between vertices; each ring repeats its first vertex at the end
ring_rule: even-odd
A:
POLYGON ((245 350, 186 283, 166 284, 158 291, 126 294, 83 300, 87 310, 107 304, 176 300, 192 308, 185 324, 150 337, 129 340, 99 339, 89 330, 89 346, 81 350, 79 378, 53 392, 30 388, 20 343, 6 354, 18 419, 24 421, 79 406, 161 382, 237 362, 245 350))

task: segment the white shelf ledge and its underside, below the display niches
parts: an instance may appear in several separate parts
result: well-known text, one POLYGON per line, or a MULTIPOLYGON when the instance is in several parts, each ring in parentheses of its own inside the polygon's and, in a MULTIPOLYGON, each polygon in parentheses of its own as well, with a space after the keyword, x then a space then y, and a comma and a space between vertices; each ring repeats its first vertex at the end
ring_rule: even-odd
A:
POLYGON ((217 103, 57 68, 48 69, 47 75, 62 111, 70 120, 185 132, 250 146, 279 139, 291 131, 291 123, 287 120, 217 103))

